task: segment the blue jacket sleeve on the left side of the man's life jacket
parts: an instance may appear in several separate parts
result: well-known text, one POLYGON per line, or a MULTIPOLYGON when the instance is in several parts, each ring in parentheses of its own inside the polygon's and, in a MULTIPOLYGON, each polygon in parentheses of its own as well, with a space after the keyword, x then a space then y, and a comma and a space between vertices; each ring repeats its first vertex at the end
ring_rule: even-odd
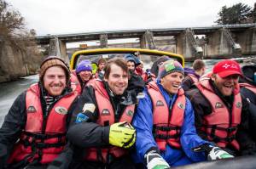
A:
POLYGON ((143 161, 143 156, 148 149, 155 147, 157 144, 154 141, 153 129, 153 110, 152 102, 148 93, 144 91, 145 98, 139 100, 137 113, 135 114, 132 126, 136 128, 136 153, 139 161, 143 161))

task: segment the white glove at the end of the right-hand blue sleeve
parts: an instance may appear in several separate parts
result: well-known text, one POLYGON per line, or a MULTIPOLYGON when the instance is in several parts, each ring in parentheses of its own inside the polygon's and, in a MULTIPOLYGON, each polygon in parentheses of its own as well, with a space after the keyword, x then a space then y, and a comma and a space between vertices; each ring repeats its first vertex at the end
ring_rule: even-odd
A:
POLYGON ((207 155, 208 161, 215 161, 218 159, 228 159, 234 158, 233 155, 230 155, 228 152, 220 149, 219 147, 212 147, 212 150, 207 155))

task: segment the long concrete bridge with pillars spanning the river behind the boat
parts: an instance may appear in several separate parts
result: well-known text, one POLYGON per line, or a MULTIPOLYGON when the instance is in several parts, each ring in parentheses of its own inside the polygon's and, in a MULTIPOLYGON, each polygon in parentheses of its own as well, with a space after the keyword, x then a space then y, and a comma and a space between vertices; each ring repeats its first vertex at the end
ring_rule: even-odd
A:
POLYGON ((256 54, 256 23, 212 25, 209 27, 165 28, 126 31, 100 31, 37 37, 49 45, 49 54, 67 59, 67 54, 90 48, 150 48, 182 54, 186 60, 216 59, 256 54), (139 42, 109 44, 108 40, 137 38, 139 42), (67 42, 99 41, 99 45, 67 49, 67 42))

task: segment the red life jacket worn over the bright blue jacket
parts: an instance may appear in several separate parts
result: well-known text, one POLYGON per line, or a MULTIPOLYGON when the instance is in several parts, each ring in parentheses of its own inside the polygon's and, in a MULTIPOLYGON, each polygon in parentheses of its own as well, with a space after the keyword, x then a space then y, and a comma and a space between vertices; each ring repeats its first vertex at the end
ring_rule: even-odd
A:
POLYGON ((153 134, 160 150, 166 150, 166 144, 180 149, 180 130, 183 126, 186 98, 180 88, 177 99, 170 112, 164 96, 155 82, 148 83, 148 93, 152 99, 154 127, 153 134))

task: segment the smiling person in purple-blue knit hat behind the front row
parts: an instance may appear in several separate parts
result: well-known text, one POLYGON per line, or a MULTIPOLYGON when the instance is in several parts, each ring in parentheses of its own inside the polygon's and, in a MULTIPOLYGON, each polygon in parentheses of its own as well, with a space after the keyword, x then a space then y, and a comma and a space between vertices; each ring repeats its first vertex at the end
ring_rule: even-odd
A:
POLYGON ((91 79, 93 79, 91 62, 88 59, 84 59, 71 74, 73 90, 78 91, 79 94, 82 93, 85 84, 91 79))

